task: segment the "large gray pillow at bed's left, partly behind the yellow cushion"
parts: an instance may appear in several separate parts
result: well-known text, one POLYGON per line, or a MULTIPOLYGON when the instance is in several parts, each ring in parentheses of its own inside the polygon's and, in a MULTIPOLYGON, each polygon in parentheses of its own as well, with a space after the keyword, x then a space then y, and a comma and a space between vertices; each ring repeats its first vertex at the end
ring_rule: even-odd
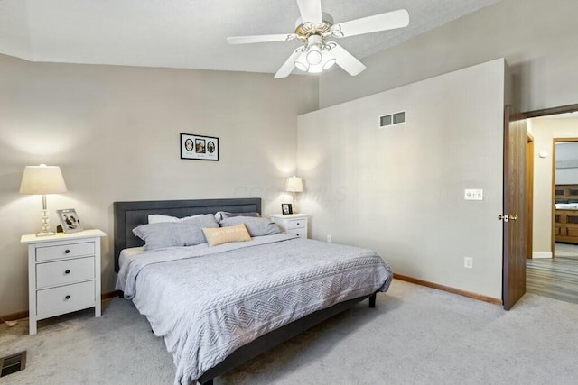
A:
POLYGON ((213 215, 206 214, 193 216, 182 222, 140 225, 133 229, 133 234, 144 241, 144 250, 158 250, 206 243, 203 227, 219 227, 219 224, 213 215))

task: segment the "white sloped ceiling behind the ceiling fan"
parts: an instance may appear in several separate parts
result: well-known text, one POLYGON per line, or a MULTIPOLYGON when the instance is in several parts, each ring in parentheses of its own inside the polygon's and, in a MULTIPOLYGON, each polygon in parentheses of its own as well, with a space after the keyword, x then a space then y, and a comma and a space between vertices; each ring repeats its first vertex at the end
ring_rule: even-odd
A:
MULTIPOLYGON (((408 27, 340 40, 359 60, 499 0, 322 0, 335 23, 406 8, 408 27)), ((32 61, 275 73, 298 41, 295 0, 0 0, 0 53, 32 61)), ((296 69, 295 72, 298 72, 296 69)))

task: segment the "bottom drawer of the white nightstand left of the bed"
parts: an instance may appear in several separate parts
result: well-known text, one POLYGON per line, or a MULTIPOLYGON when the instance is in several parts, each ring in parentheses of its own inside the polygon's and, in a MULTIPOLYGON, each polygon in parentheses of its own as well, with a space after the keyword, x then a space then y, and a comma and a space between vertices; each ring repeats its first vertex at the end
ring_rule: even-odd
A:
POLYGON ((68 313, 91 305, 94 306, 94 280, 38 290, 36 298, 36 312, 39 317, 44 314, 68 313))

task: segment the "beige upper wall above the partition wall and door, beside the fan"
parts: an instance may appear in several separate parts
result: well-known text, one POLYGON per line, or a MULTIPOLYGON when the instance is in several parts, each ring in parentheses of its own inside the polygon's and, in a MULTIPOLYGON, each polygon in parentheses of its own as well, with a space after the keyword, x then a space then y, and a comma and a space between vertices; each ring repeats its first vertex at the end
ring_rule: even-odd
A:
POLYGON ((573 0, 502 0, 361 60, 368 69, 357 77, 340 69, 325 74, 320 105, 496 58, 506 58, 512 69, 515 105, 521 111, 578 103, 575 87, 570 87, 578 84, 576 14, 578 2, 573 0))

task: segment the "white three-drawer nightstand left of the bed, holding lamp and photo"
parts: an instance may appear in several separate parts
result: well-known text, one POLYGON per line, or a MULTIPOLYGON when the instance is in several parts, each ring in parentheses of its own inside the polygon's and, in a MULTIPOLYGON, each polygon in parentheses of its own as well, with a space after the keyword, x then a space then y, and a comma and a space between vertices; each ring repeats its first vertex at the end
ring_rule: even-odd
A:
POLYGON ((100 316, 100 230, 23 235, 28 245, 30 334, 36 322, 87 307, 100 316))

